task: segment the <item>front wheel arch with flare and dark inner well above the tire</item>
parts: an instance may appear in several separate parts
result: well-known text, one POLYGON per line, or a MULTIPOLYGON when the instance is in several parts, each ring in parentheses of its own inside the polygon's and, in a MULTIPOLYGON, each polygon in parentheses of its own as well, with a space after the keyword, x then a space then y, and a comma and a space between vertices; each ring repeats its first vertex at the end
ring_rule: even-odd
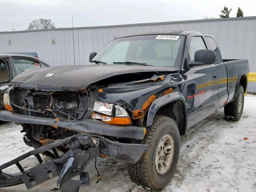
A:
POLYGON ((174 92, 156 99, 148 111, 146 126, 150 126, 156 115, 172 118, 178 125, 180 136, 186 134, 187 107, 186 100, 180 92, 174 92))

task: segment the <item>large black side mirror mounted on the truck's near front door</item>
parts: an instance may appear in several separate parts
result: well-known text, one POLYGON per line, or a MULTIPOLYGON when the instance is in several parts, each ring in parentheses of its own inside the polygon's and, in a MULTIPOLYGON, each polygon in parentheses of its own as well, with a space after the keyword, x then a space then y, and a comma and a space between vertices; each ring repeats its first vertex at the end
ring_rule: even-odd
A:
POLYGON ((215 52, 213 50, 201 49, 195 52, 194 61, 188 63, 189 66, 209 65, 215 61, 215 52))

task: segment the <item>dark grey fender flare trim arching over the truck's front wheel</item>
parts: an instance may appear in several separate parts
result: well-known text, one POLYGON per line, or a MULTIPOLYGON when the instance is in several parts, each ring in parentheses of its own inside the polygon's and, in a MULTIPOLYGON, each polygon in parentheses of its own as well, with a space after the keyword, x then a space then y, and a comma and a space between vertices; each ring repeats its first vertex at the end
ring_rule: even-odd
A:
POLYGON ((167 94, 165 96, 162 96, 156 100, 154 100, 154 102, 151 104, 149 110, 148 110, 148 119, 147 119, 147 124, 146 126, 150 126, 152 125, 152 122, 154 120, 154 117, 156 115, 156 112, 164 105, 175 101, 175 100, 181 100, 185 106, 186 109, 186 125, 187 125, 187 106, 186 106, 186 99, 183 96, 183 94, 181 94, 180 92, 173 92, 170 94, 167 94))

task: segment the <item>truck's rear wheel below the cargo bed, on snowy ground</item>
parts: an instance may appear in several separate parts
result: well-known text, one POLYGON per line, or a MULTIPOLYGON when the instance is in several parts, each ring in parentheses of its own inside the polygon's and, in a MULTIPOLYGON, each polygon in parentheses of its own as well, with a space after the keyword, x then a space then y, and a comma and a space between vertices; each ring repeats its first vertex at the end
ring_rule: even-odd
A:
POLYGON ((224 114, 226 120, 238 121, 240 120, 244 109, 244 88, 239 85, 236 99, 224 106, 224 114))

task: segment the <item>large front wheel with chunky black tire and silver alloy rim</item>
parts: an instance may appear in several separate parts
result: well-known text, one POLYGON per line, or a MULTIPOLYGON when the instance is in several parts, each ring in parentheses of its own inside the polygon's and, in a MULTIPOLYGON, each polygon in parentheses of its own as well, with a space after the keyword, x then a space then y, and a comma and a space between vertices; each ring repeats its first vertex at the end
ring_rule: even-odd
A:
POLYGON ((130 179, 136 185, 142 186, 145 189, 151 191, 161 190, 172 178, 179 159, 180 133, 176 122, 166 116, 155 116, 152 125, 148 127, 142 143, 147 144, 148 148, 136 164, 127 165, 130 179), (166 142, 163 143, 162 139, 166 138, 166 142), (171 144, 174 148, 167 149, 172 146, 171 144), (163 146, 163 148, 160 146, 163 146), (166 146, 165 152, 161 150, 160 153, 156 153, 160 149, 164 149, 164 146, 166 146), (167 168, 165 169, 162 166, 163 164, 159 163, 161 161, 159 159, 162 159, 161 157, 164 157, 166 161, 164 164, 167 168), (159 161, 157 162, 155 158, 159 161), (158 170, 156 164, 158 164, 158 170))

